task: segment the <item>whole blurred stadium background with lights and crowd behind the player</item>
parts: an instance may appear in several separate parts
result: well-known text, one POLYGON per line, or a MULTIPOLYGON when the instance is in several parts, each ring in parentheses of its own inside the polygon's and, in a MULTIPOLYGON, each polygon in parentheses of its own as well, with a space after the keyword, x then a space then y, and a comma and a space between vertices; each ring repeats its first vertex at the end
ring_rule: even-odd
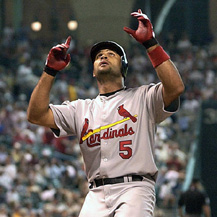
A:
POLYGON ((157 131, 155 217, 177 216, 177 199, 193 177, 217 216, 216 0, 0 0, 1 217, 78 216, 88 191, 78 141, 29 124, 28 100, 50 48, 68 35, 72 60, 56 78, 52 103, 98 94, 89 50, 101 40, 125 47, 128 87, 157 82, 144 49, 123 31, 137 27, 130 13, 138 8, 186 86, 180 111, 157 131))

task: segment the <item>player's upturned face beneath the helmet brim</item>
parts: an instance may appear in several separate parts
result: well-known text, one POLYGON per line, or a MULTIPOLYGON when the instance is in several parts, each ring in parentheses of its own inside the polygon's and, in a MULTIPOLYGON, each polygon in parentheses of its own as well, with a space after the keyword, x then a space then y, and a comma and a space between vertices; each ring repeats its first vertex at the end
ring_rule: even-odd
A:
POLYGON ((103 49, 96 55, 94 61, 93 76, 99 78, 102 75, 121 75, 121 57, 113 50, 103 49))

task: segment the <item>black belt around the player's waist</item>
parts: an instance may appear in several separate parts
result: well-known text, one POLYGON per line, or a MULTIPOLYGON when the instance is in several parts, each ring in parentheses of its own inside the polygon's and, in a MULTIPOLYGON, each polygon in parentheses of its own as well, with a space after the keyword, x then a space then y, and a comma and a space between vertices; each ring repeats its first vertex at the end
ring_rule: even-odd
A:
POLYGON ((153 181, 153 177, 151 177, 151 175, 144 175, 144 176, 127 175, 127 176, 120 176, 116 178, 94 179, 93 182, 90 182, 89 188, 92 189, 93 187, 99 187, 102 185, 112 185, 112 184, 124 183, 124 182, 142 181, 144 177, 153 181))

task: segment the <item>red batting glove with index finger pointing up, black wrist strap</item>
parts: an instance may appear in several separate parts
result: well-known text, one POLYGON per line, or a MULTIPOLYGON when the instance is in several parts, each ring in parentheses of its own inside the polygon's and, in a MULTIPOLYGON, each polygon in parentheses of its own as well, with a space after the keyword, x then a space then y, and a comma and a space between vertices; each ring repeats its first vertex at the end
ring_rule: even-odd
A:
POLYGON ((72 38, 69 36, 66 42, 52 47, 45 63, 44 71, 55 76, 58 71, 64 69, 70 62, 70 54, 67 54, 72 38))

